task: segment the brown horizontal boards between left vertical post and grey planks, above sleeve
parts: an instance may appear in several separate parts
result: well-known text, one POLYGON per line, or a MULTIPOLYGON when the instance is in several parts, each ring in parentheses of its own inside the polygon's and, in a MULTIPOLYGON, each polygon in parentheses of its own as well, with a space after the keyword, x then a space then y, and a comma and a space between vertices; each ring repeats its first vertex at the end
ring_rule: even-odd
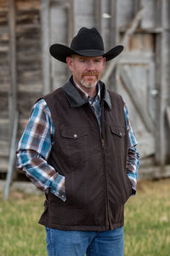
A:
POLYGON ((16 1, 16 61, 20 119, 42 96, 41 25, 38 0, 16 1))

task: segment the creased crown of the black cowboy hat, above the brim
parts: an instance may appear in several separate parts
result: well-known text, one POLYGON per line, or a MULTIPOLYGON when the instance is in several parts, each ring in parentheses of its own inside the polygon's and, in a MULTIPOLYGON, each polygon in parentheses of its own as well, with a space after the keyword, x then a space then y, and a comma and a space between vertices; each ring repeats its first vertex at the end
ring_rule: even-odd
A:
POLYGON ((73 50, 100 50, 105 52, 103 39, 95 27, 82 27, 71 41, 73 50))

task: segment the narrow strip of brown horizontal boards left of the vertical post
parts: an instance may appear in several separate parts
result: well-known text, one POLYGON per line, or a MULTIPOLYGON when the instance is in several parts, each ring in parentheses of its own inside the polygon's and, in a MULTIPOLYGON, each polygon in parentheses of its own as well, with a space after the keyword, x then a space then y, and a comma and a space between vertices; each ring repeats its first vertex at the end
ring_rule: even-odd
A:
POLYGON ((5 170, 8 161, 8 7, 0 1, 0 162, 5 170))

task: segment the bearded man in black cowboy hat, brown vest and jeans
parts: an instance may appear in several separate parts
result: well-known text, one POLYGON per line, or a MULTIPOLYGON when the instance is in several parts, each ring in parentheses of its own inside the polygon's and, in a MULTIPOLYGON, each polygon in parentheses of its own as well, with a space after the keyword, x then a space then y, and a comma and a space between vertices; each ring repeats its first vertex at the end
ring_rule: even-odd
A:
POLYGON ((95 29, 82 27, 71 48, 50 54, 72 76, 34 106, 17 150, 17 167, 45 192, 39 223, 50 256, 122 256, 124 204, 136 192, 139 154, 122 97, 99 79, 105 53, 95 29))

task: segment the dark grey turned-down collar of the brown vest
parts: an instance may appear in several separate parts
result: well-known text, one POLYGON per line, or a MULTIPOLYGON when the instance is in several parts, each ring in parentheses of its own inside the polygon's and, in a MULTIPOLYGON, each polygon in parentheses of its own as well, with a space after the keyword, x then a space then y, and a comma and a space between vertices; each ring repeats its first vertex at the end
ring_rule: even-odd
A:
MULTIPOLYGON (((111 97, 110 97, 108 91, 106 90, 105 84, 103 82, 99 81, 99 86, 100 86, 100 90, 101 90, 101 101, 106 102, 108 107, 111 109, 111 97)), ((62 89, 63 89, 63 92, 65 94, 67 101, 71 105, 71 108, 78 108, 78 107, 81 107, 82 105, 88 103, 88 99, 85 99, 80 94, 80 92, 77 90, 77 88, 75 87, 72 76, 68 80, 68 82, 66 82, 63 85, 62 89)))

